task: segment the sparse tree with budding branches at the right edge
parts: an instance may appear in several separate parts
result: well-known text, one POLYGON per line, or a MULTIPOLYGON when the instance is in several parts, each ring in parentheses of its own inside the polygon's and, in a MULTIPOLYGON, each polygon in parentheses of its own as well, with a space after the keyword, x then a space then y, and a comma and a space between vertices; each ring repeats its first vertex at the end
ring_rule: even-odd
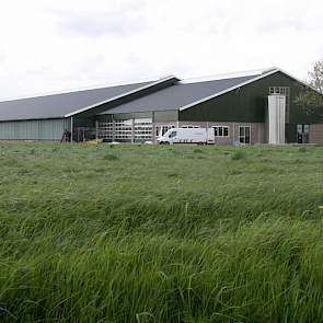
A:
POLYGON ((307 113, 313 113, 315 107, 323 106, 323 58, 314 64, 313 70, 309 72, 309 78, 312 89, 302 86, 296 103, 302 105, 307 113))

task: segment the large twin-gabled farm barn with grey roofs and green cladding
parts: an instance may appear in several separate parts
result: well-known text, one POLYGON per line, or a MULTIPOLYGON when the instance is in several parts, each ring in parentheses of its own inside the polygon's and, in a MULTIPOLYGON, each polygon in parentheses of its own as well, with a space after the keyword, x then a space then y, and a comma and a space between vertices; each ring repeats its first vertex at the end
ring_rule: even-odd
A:
POLYGON ((173 127, 209 127, 216 143, 322 143, 323 107, 307 113, 296 104, 304 85, 272 68, 5 101, 0 139, 60 140, 68 131, 72 141, 155 142, 173 127))

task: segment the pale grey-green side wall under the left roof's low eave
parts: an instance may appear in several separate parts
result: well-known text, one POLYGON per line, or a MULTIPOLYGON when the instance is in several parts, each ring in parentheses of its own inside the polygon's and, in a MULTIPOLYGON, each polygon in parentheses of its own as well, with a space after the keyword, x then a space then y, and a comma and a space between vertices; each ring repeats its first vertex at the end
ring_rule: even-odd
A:
POLYGON ((60 140, 70 119, 1 122, 1 140, 60 140))

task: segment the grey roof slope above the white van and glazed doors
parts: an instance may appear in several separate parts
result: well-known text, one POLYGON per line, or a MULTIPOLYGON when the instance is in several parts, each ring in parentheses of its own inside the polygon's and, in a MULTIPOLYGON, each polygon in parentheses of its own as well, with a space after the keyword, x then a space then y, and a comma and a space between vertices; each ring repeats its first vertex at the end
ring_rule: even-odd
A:
POLYGON ((176 83, 161 91, 109 108, 101 114, 180 109, 183 106, 247 82, 256 77, 258 74, 197 83, 176 83))

